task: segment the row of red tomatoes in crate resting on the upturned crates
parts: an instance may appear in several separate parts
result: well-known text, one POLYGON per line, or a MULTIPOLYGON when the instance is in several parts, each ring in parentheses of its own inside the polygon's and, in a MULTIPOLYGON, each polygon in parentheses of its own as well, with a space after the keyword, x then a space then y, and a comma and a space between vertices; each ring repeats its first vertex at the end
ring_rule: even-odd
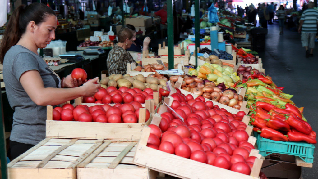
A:
MULTIPOLYGON (((138 123, 139 109, 142 104, 138 101, 131 103, 95 105, 88 107, 83 104, 75 108, 72 104, 64 104, 62 107, 53 109, 53 120, 100 122, 100 123, 138 123)), ((146 109, 146 121, 149 120, 150 112, 146 109)))

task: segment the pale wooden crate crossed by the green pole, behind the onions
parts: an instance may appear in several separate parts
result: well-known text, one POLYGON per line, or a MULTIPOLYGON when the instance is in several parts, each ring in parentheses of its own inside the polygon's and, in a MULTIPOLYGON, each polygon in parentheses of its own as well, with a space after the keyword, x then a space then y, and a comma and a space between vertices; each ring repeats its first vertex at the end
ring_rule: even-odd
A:
MULTIPOLYGON (((148 65, 151 63, 158 63, 156 60, 161 60, 162 62, 166 62, 169 63, 168 60, 168 56, 162 56, 161 58, 146 58, 146 56, 148 56, 148 51, 143 51, 142 52, 142 65, 148 65)), ((190 55, 188 54, 188 52, 186 52, 184 57, 178 57, 178 58, 174 58, 174 64, 177 63, 184 63, 184 65, 188 65, 189 64, 189 57, 190 55)))

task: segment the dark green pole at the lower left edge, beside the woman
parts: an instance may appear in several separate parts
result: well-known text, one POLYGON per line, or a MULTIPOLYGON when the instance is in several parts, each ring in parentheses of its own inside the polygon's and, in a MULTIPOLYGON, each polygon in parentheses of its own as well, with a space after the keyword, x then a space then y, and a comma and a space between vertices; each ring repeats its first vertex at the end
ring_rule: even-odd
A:
MULTIPOLYGON (((0 95, 1 95, 0 88, 0 95)), ((2 108, 2 95, 0 96, 0 117, 2 122, 0 122, 0 158, 1 158, 1 177, 7 179, 7 151, 5 143, 5 130, 4 130, 4 120, 3 120, 3 108, 2 108)))

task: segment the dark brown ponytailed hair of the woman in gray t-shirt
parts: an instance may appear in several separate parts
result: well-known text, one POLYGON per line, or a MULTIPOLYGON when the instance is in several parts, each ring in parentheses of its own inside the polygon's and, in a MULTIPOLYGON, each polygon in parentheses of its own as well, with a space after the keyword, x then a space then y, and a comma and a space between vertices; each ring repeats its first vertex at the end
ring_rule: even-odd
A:
POLYGON ((3 64, 4 55, 20 40, 29 22, 34 21, 39 25, 46 20, 48 15, 55 12, 43 3, 32 3, 28 6, 19 5, 12 13, 0 44, 0 63, 3 64))

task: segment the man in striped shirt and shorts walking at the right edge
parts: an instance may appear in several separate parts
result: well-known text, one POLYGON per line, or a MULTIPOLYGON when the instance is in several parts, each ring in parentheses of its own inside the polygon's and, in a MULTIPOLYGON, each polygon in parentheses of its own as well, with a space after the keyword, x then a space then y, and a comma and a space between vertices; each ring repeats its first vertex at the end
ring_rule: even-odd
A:
POLYGON ((300 18, 298 32, 301 32, 301 43, 306 49, 306 57, 313 56, 315 48, 315 36, 318 25, 318 11, 314 9, 314 2, 307 4, 308 9, 304 10, 300 18), (309 50, 310 49, 310 52, 309 50))

